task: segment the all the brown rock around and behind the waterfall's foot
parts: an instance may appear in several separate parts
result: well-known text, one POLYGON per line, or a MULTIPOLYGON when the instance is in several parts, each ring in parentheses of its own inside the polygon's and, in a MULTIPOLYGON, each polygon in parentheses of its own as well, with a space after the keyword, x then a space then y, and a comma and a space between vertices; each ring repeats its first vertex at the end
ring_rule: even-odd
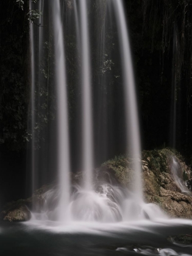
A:
MULTIPOLYGON (((171 167, 172 156, 177 162, 177 176, 180 180, 186 181, 188 188, 192 187, 191 169, 185 164, 178 152, 172 152, 170 149, 143 151, 142 160, 139 161, 142 165, 144 199, 148 203, 160 205, 171 217, 192 218, 192 193, 187 187, 186 191, 181 191, 178 182, 174 180, 171 167)), ((100 185, 102 183, 131 189, 134 179, 137 179, 131 168, 132 163, 132 158, 120 155, 95 169, 93 179, 96 181, 96 191, 101 190, 100 185)), ((82 179, 84 179, 84 173, 82 172, 71 174, 73 184, 80 185, 82 179)), ((32 197, 5 205, 0 213, 0 219, 4 219, 4 221, 26 221, 30 219, 29 211, 32 208, 35 212, 40 212, 46 205, 46 209, 52 210, 57 205, 57 191, 58 188, 55 182, 51 185, 44 185, 36 190, 32 197), (46 201, 47 197, 51 202, 50 205, 46 201)))

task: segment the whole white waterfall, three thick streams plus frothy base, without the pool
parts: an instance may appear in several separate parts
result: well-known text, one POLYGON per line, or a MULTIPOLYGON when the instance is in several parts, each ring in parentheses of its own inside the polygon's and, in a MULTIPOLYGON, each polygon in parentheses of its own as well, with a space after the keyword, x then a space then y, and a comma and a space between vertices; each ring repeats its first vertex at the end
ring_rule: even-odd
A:
MULTIPOLYGON (((141 148, 140 133, 138 124, 138 110, 135 94, 135 81, 133 77, 132 59, 130 54, 129 36, 126 26, 126 18, 123 10, 123 2, 121 0, 105 1, 105 12, 103 18, 104 31, 108 32, 108 24, 112 24, 113 14, 115 13, 116 24, 118 28, 119 51, 121 51, 121 66, 123 74, 124 87, 124 108, 126 115, 126 137, 127 152, 131 159, 134 173, 133 184, 131 190, 119 187, 110 179, 99 180, 100 174, 92 171, 94 166, 93 158, 93 110, 92 110, 92 75, 91 71, 91 53, 90 53, 90 35, 88 27, 88 1, 66 1, 70 6, 70 12, 74 8, 74 33, 76 33, 76 54, 79 56, 78 72, 81 76, 79 81, 81 88, 81 105, 82 105, 82 143, 79 148, 82 150, 82 181, 78 185, 71 182, 69 175, 71 172, 70 155, 69 155, 69 123, 68 123, 68 91, 66 79, 65 57, 62 12, 60 0, 49 1, 49 9, 51 18, 49 18, 49 30, 53 29, 54 43, 54 69, 50 69, 49 73, 54 73, 54 85, 57 91, 57 169, 59 175, 59 188, 54 186, 51 190, 43 194, 44 205, 41 213, 37 218, 54 219, 62 222, 66 221, 100 221, 100 222, 117 222, 130 221, 132 219, 152 218, 155 212, 157 216, 165 216, 155 205, 147 205, 143 202, 142 182, 141 182, 141 148), (71 5, 73 2, 73 5, 71 5), (107 14, 108 13, 108 14, 107 14), (107 21, 108 17, 110 21, 107 21), (77 50, 78 49, 78 50, 77 50), (41 217, 40 217, 41 215, 41 217), (42 217, 43 216, 43 217, 42 217)), ((41 2, 46 4, 46 2, 41 2)), ((99 7, 98 5, 98 8, 99 7)), ((64 5, 63 5, 64 12, 64 5)), ((71 25, 72 26, 72 25, 71 25)), ((41 28, 42 29, 42 28, 41 28)), ((31 29, 32 33, 32 29, 31 29)), ((51 33, 51 32, 50 32, 51 33)), ((112 61, 105 60, 104 33, 102 35, 102 43, 99 46, 101 55, 98 56, 97 62, 99 67, 108 68, 108 63, 112 61)), ((39 32, 41 38, 41 31, 39 32)), ((33 37, 31 36, 33 42, 33 37)), ((40 39, 39 42, 42 40, 40 39)), ((39 45, 39 49, 42 47, 39 45)), ((32 52, 33 53, 33 52, 32 52)), ((119 54, 118 54, 119 55, 119 54)), ((107 55, 107 56, 110 56, 107 55)), ((32 66, 34 65, 32 54, 32 66)), ((95 65, 95 64, 94 64, 95 65)), ((110 69, 110 68, 109 68, 110 69)), ((34 72, 34 71, 33 71, 34 72)), ((32 76, 33 78, 33 76, 32 76)), ((107 83, 107 77, 101 77, 102 84, 107 83)), ((33 81, 33 80, 32 80, 33 81)), ((102 85, 104 86, 104 85, 102 85)), ((109 90, 109 88, 108 88, 109 90)), ((107 101, 107 94, 104 99, 107 101)), ((33 109, 33 108, 32 108, 33 109)), ((106 112, 104 113, 104 116, 106 112)), ((107 134, 108 126, 104 127, 107 134)), ((80 153, 79 153, 80 154, 80 153)), ((127 166, 128 168, 128 166, 127 166)), ((110 177, 110 173, 107 174, 110 177)))

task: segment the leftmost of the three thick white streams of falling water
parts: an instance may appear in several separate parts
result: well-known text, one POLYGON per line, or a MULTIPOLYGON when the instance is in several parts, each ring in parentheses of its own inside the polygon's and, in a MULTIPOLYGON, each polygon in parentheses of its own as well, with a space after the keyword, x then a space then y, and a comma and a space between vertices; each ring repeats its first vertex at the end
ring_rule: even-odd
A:
POLYGON ((59 221, 67 221, 70 193, 68 98, 66 90, 65 51, 60 0, 50 1, 54 26, 55 83, 57 87, 57 138, 59 173, 59 221))

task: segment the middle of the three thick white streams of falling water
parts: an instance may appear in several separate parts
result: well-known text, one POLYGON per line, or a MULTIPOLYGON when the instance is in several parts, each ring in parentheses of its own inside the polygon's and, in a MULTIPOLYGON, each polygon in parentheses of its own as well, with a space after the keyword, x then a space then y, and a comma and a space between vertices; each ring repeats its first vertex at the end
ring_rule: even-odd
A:
POLYGON ((83 138, 83 169, 85 172, 84 187, 92 188, 93 168, 93 124, 91 104, 91 63, 90 43, 87 20, 87 1, 81 0, 80 4, 80 31, 82 51, 82 138, 83 138))

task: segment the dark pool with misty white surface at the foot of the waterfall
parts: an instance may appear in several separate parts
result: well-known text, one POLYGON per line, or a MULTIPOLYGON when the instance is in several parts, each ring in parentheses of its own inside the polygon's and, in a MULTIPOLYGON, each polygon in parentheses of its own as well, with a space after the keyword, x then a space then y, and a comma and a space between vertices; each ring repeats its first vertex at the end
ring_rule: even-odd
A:
POLYGON ((192 256, 192 244, 168 236, 192 233, 192 221, 0 222, 0 255, 160 255, 192 256))

